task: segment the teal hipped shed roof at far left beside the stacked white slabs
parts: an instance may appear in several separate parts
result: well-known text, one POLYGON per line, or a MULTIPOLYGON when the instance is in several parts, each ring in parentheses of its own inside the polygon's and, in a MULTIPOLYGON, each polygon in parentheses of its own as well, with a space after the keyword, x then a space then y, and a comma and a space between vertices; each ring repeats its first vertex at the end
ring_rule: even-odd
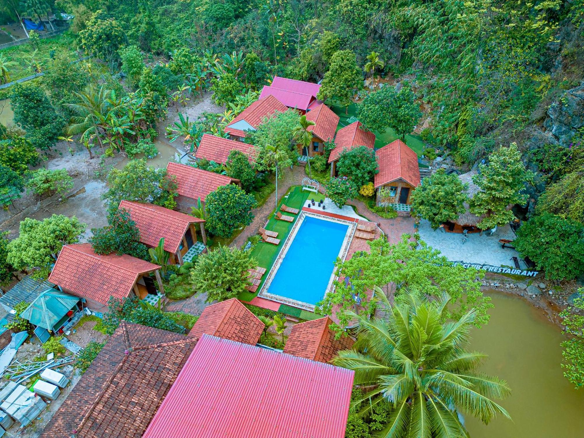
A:
POLYGON ((81 300, 56 289, 49 289, 41 293, 36 300, 30 303, 21 318, 30 321, 30 324, 43 327, 47 330, 53 330, 67 312, 71 310, 81 300))

